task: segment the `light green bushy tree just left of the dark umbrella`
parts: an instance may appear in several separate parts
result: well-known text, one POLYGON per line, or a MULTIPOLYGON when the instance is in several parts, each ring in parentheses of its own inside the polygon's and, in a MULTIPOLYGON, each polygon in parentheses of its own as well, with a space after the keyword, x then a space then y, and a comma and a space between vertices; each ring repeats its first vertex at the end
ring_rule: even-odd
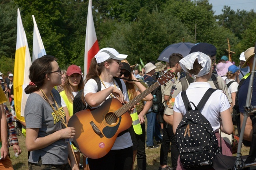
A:
POLYGON ((191 40, 184 25, 174 16, 164 16, 154 10, 150 13, 142 8, 136 22, 117 24, 111 37, 104 40, 104 45, 111 46, 120 53, 128 54, 131 64, 156 61, 160 53, 172 43, 191 40))

